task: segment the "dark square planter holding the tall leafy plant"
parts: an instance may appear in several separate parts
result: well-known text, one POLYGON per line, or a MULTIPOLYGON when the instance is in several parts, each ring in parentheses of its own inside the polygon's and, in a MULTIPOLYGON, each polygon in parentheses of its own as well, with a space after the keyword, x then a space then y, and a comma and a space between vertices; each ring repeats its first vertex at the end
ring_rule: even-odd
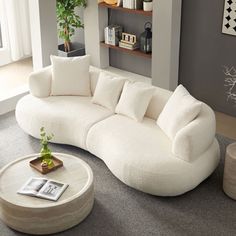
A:
POLYGON ((64 44, 58 45, 58 56, 61 57, 76 57, 76 56, 84 56, 85 55, 85 47, 82 43, 71 43, 71 51, 65 52, 64 44))

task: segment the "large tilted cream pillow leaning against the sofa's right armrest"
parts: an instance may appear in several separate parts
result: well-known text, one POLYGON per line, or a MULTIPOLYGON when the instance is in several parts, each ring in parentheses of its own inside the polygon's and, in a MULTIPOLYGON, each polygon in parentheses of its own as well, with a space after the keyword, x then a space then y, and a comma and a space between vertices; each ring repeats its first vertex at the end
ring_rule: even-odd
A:
POLYGON ((192 97, 183 85, 179 85, 158 117, 157 124, 173 140, 180 129, 197 117, 201 107, 202 102, 192 97))

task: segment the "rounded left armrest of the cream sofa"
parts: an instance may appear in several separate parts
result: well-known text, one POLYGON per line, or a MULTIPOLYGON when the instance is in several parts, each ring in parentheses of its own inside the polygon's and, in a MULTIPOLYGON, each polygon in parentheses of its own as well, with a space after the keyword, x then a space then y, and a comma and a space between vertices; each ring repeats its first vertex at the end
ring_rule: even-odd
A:
POLYGON ((29 76, 29 90, 35 97, 48 97, 51 93, 52 66, 32 72, 29 76))

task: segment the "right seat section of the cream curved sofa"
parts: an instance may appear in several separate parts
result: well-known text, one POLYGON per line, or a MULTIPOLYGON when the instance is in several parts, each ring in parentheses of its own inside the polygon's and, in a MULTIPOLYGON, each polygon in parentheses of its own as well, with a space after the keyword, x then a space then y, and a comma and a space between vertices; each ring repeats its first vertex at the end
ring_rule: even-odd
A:
POLYGON ((219 161, 216 141, 192 163, 176 158, 171 153, 170 139, 155 120, 147 117, 138 123, 114 115, 97 123, 88 132, 87 148, 103 159, 122 182, 159 196, 175 196, 193 189, 219 161))

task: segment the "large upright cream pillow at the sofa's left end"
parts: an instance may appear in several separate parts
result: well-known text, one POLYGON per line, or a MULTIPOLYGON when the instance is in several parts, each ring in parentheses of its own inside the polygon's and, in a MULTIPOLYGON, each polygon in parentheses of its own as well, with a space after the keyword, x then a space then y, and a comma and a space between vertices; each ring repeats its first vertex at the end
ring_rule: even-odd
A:
POLYGON ((91 96, 89 65, 90 56, 51 56, 51 95, 91 96))

